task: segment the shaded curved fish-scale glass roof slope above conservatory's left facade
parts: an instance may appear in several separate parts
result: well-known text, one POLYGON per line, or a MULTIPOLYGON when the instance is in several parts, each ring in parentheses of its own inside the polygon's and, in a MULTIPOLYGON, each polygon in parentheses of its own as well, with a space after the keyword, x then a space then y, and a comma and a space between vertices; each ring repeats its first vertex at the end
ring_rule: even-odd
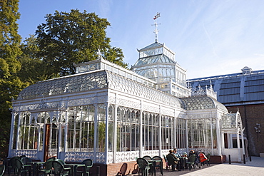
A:
POLYGON ((18 100, 76 93, 97 88, 107 88, 106 71, 80 73, 72 76, 54 78, 31 85, 19 93, 18 100))

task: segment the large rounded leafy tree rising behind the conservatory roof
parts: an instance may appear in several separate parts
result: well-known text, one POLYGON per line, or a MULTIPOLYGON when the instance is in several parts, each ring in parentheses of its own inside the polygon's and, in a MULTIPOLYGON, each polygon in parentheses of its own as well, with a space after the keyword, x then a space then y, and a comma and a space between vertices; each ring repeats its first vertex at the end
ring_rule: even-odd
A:
POLYGON ((106 28, 110 23, 94 13, 70 13, 56 11, 48 14, 46 24, 36 30, 40 56, 52 71, 66 76, 75 73, 73 63, 93 61, 98 58, 100 48, 102 57, 108 61, 127 67, 123 63, 120 48, 111 47, 110 38, 106 37, 106 28))

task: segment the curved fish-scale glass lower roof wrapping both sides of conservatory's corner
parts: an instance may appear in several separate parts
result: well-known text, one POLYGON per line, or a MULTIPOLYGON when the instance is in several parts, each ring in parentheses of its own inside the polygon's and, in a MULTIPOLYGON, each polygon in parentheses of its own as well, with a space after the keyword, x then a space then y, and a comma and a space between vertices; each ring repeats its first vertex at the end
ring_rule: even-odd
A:
POLYGON ((77 95, 78 92, 100 88, 111 88, 176 108, 184 108, 183 102, 179 98, 111 71, 87 72, 41 81, 24 88, 17 99, 25 100, 44 96, 49 98, 51 95, 64 95, 65 93, 76 93, 77 95))

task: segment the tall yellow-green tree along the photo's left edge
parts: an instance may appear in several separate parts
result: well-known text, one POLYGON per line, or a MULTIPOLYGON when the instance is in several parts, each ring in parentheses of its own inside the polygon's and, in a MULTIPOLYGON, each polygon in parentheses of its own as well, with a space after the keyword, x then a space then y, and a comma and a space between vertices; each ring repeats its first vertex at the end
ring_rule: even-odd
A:
POLYGON ((15 98, 26 84, 16 75, 21 68, 16 59, 21 54, 21 36, 17 32, 16 24, 20 17, 19 0, 1 0, 0 7, 0 157, 5 157, 9 146, 11 99, 15 98))

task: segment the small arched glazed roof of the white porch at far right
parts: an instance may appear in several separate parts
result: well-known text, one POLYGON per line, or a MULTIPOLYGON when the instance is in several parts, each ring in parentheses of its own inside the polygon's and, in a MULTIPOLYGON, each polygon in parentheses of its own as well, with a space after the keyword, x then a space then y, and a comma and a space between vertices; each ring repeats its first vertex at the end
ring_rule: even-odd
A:
POLYGON ((231 114, 223 115, 221 128, 222 129, 243 130, 240 113, 231 113, 231 114))

